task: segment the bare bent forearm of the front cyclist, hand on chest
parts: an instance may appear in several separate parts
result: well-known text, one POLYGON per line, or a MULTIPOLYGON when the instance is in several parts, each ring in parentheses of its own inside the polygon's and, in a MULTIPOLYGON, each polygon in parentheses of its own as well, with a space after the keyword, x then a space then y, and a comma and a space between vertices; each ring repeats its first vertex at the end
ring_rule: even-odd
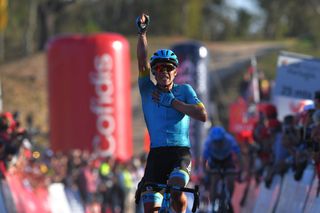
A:
POLYGON ((208 119, 207 111, 202 103, 187 104, 174 99, 172 102, 172 107, 196 120, 205 122, 208 119))

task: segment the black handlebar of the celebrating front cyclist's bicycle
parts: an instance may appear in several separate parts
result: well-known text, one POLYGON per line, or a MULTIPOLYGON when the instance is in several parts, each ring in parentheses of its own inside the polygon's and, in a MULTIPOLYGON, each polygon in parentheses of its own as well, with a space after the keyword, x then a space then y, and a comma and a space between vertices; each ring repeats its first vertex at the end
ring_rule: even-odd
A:
POLYGON ((188 192, 193 194, 193 205, 192 205, 192 212, 196 212, 197 208, 199 207, 199 186, 195 185, 194 189, 187 188, 187 187, 180 187, 176 185, 168 185, 168 184, 160 184, 160 183, 145 183, 144 187, 154 187, 158 189, 166 189, 166 190, 176 190, 180 192, 188 192))

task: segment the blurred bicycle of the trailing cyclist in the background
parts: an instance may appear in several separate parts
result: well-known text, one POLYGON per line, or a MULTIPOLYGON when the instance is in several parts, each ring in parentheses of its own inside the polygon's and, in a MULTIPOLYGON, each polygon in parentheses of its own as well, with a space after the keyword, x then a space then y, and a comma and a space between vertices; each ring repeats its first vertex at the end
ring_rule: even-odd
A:
POLYGON ((219 175, 219 180, 216 187, 216 192, 218 196, 211 201, 212 212, 214 213, 225 213, 225 212, 232 212, 231 206, 231 194, 227 188, 227 175, 238 175, 239 171, 234 169, 224 169, 224 168, 217 168, 217 169, 209 169, 207 170, 208 174, 211 175, 219 175))

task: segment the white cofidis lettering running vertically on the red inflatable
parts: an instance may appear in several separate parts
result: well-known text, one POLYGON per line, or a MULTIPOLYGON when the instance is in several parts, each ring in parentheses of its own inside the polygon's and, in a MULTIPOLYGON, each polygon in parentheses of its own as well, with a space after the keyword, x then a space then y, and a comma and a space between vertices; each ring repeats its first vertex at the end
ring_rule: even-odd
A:
POLYGON ((112 57, 108 54, 94 58, 95 70, 89 74, 91 84, 94 85, 95 97, 90 100, 90 110, 96 118, 97 133, 93 144, 104 144, 103 153, 111 155, 115 151, 116 129, 114 115, 114 83, 112 82, 112 57))

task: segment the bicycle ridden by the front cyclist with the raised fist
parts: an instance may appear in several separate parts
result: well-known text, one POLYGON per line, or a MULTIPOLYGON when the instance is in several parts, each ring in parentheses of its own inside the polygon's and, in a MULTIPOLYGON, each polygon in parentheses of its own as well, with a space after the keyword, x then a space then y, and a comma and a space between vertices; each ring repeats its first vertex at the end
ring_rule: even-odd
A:
MULTIPOLYGON (((143 187, 152 187, 155 190, 164 190, 163 199, 161 203, 161 207, 159 209, 159 213, 169 213, 171 209, 171 190, 180 191, 180 192, 188 192, 193 194, 193 205, 192 205, 192 212, 196 212, 197 208, 199 207, 199 186, 195 185, 194 188, 187 188, 187 187, 180 187, 175 185, 168 185, 168 184, 160 184, 160 183, 145 183, 143 187)), ((140 194, 138 195, 138 201, 140 199, 140 194)))

